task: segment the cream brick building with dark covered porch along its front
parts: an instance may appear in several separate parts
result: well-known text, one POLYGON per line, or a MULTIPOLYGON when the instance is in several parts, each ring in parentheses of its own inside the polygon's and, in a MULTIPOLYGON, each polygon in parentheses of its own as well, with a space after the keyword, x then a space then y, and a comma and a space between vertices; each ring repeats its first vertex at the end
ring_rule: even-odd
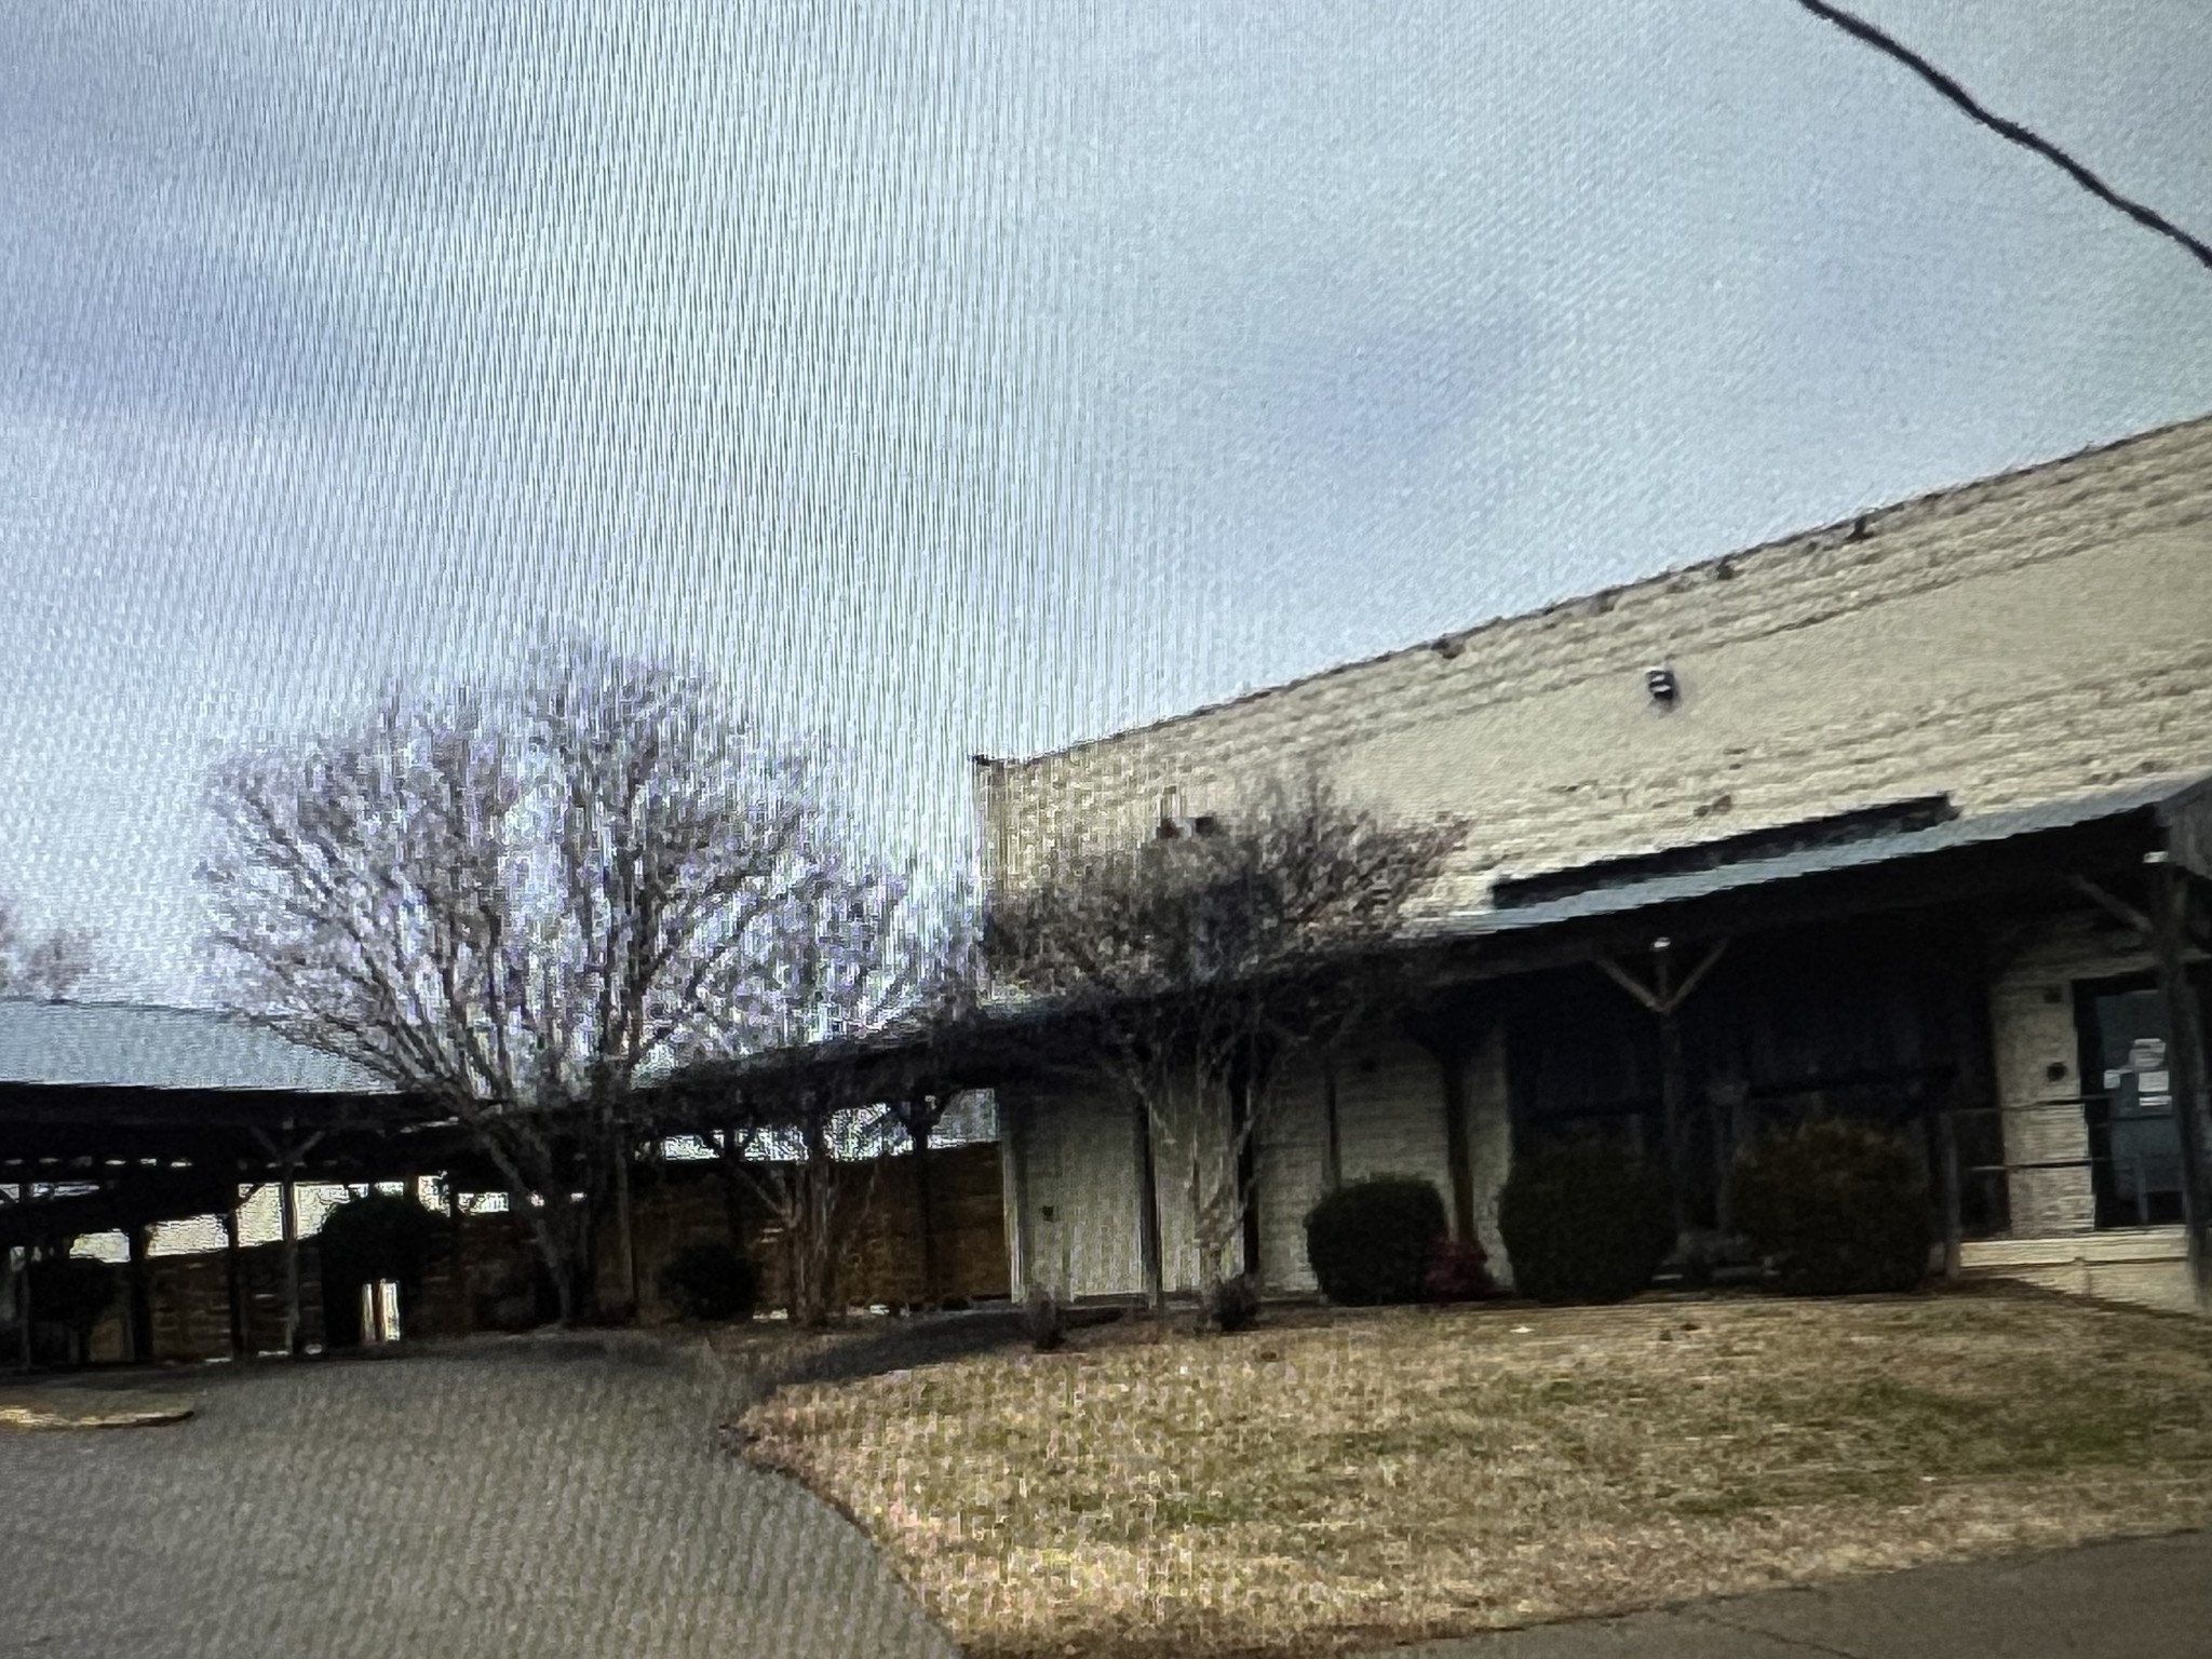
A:
MULTIPOLYGON (((1756 1121, 1854 1110, 1924 1148, 1955 1272, 2194 1298, 2170 1099, 2203 1075, 2212 418, 978 759, 991 891, 1071 827, 1228 818, 1303 763, 1471 836, 1407 940, 1418 1018, 1305 1066, 1261 1128, 1267 1290, 1310 1287, 1336 1179, 1425 1175, 1498 1259, 1528 1135, 1672 1117, 1719 1225, 1756 1121)), ((1128 1104, 998 1095, 1015 1290, 1194 1287, 1128 1104)))

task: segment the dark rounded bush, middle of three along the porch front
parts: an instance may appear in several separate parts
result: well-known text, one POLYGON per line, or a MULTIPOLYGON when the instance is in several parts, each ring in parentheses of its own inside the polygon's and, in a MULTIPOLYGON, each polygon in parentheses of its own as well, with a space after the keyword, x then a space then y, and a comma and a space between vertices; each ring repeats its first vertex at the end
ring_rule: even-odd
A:
POLYGON ((1555 1141, 1513 1157, 1498 1194, 1513 1285, 1540 1303, 1617 1303, 1674 1248, 1666 1194, 1635 1152, 1555 1141))

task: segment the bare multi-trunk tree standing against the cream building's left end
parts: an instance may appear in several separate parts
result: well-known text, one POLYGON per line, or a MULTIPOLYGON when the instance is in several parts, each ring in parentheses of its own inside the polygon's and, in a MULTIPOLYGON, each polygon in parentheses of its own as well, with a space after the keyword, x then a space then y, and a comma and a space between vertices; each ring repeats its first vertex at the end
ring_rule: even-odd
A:
POLYGON ((1389 991, 1383 947, 1462 838, 1451 821, 1385 823, 1307 774, 1267 783, 1228 823, 1164 823, 1139 849, 1071 838, 993 896, 993 984, 1051 1009, 1062 1057, 1097 1066, 1141 1110, 1157 1168, 1190 1206, 1208 1307, 1285 1062, 1338 1042, 1389 991))

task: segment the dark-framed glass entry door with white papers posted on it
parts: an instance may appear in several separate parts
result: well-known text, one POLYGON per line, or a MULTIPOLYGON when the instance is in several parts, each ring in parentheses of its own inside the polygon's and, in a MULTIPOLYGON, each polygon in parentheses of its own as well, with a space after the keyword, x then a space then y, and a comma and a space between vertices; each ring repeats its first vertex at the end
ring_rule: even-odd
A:
POLYGON ((2154 987, 2081 987, 2081 1095, 2099 1228, 2181 1221, 2181 1124, 2166 1073, 2166 1006, 2154 987))

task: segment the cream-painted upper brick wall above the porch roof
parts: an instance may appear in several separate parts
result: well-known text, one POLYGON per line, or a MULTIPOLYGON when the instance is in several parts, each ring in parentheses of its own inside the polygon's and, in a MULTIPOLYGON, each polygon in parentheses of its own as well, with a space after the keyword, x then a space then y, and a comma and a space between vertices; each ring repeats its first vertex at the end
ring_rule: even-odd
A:
POLYGON ((1473 821, 1498 872, 1949 790, 1969 812, 2212 768, 2212 420, 1882 509, 1234 703, 978 772, 993 876, 1161 792, 1303 759, 1473 821), (1641 670, 1670 664, 1672 710, 1641 670))

